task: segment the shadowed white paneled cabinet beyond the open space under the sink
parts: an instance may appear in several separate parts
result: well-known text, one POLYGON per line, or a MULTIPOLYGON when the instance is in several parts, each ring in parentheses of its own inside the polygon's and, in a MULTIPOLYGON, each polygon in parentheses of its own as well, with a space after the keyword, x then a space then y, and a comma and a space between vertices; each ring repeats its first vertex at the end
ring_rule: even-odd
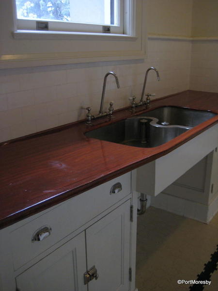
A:
POLYGON ((218 211, 217 147, 157 197, 152 197, 151 205, 209 223, 218 211))

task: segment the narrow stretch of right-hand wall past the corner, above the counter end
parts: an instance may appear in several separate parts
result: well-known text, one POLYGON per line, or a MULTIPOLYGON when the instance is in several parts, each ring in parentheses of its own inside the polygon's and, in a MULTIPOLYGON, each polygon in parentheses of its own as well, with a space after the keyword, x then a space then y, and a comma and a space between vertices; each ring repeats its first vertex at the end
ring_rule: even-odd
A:
POLYGON ((192 44, 190 89, 218 92, 217 0, 193 0, 192 35, 205 39, 192 44))

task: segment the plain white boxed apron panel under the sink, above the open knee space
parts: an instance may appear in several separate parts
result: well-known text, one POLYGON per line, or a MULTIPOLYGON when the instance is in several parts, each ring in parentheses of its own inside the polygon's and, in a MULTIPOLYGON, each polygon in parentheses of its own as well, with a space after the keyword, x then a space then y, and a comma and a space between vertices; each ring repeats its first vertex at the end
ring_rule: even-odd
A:
POLYGON ((139 167, 136 190, 152 196, 158 195, 214 150, 217 144, 218 124, 170 153, 139 167))

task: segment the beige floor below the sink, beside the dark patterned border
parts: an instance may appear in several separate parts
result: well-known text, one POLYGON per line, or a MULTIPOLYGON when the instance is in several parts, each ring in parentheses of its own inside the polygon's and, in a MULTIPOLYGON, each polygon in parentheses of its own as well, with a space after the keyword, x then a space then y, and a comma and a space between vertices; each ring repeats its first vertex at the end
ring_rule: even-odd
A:
MULTIPOLYGON (((197 279, 218 244, 218 214, 210 224, 150 207, 138 216, 136 287, 139 291, 189 291, 177 280, 197 279)), ((218 270, 203 291, 218 291, 218 270)))

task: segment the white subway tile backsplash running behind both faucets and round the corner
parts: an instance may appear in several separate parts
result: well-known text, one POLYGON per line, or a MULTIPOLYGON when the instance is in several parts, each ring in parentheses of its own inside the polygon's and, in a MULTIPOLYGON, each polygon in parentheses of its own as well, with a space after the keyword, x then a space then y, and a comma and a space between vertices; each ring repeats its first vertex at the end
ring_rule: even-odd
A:
POLYGON ((73 65, 71 69, 60 66, 60 70, 58 66, 56 70, 47 66, 40 70, 23 69, 20 74, 17 70, 16 74, 13 71, 11 75, 1 75, 0 128, 4 129, 1 140, 27 134, 31 128, 34 132, 82 119, 86 114, 82 107, 91 106, 92 113, 98 113, 103 80, 108 71, 117 74, 121 88, 118 90, 114 78, 108 77, 105 110, 111 100, 115 109, 129 105, 128 98, 133 95, 139 100, 145 72, 150 66, 160 73, 159 82, 154 71, 148 75, 146 92, 156 93, 152 99, 187 89, 218 92, 217 52, 216 42, 149 39, 144 62, 87 63, 73 65), (32 124, 29 129, 25 126, 16 128, 17 124, 28 121, 32 124), (10 127, 13 127, 12 134, 8 130, 10 127))

